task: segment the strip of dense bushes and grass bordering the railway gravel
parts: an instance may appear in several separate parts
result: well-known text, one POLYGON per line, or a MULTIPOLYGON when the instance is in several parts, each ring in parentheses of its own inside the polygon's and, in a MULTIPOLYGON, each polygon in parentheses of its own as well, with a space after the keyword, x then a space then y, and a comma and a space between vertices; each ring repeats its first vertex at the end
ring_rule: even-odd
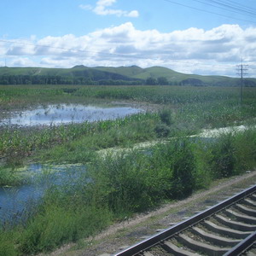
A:
POLYGON ((210 141, 180 138, 96 158, 77 183, 49 189, 28 221, 3 226, 0 255, 38 253, 78 241, 135 212, 241 174, 256 166, 255 145, 256 131, 247 130, 210 141))

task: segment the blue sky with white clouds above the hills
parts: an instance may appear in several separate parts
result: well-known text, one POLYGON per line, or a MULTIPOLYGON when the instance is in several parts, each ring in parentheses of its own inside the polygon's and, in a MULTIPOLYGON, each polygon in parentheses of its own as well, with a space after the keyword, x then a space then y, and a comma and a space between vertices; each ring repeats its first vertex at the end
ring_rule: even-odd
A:
POLYGON ((169 67, 256 77, 255 0, 1 0, 0 67, 169 67))

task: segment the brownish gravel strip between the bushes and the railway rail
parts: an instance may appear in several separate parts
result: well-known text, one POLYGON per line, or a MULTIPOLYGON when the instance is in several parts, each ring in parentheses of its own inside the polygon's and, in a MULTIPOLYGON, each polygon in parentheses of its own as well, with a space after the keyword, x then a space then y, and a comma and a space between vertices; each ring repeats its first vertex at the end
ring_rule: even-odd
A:
MULTIPOLYGON (((182 221, 213 206, 218 201, 236 195, 243 189, 255 185, 256 171, 247 172, 239 177, 220 180, 210 189, 196 192, 183 201, 168 203, 152 212, 137 214, 119 224, 113 224, 101 234, 90 237, 78 244, 68 244, 53 253, 44 255, 60 256, 96 256, 103 253, 116 253, 120 248, 128 247, 146 236, 152 236, 157 230, 166 229, 170 224, 182 221)), ((43 256, 43 254, 41 254, 43 256)))

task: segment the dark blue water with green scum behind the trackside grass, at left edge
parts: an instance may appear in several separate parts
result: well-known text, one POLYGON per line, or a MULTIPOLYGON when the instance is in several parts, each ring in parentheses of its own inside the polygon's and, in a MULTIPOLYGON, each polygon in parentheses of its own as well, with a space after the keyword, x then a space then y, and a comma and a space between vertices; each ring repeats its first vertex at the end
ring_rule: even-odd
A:
POLYGON ((26 167, 28 183, 0 188, 0 224, 18 222, 38 205, 44 192, 54 185, 76 183, 86 171, 83 165, 48 166, 32 164, 26 167))

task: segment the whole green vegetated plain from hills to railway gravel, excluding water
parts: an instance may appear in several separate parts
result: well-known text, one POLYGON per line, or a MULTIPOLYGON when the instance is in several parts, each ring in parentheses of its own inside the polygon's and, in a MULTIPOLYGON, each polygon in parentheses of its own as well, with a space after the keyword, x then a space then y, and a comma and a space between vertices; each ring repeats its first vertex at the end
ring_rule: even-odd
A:
POLYGON ((95 122, 0 125, 1 187, 29 183, 19 170, 32 163, 86 166, 75 180, 51 183, 20 218, 2 221, 1 256, 49 252, 256 166, 256 88, 243 88, 241 102, 238 87, 0 85, 0 122, 61 104, 143 111, 95 122), (231 128, 199 136, 222 127, 231 128), (145 142, 147 148, 135 147, 145 142))

